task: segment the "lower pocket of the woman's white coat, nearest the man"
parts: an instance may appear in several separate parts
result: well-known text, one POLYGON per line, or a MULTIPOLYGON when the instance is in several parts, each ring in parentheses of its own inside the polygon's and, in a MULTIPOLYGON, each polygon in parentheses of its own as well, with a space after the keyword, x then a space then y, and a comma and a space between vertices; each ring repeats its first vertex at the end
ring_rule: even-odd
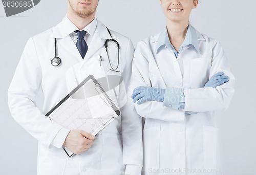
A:
POLYGON ((143 171, 159 168, 160 126, 143 130, 143 171))

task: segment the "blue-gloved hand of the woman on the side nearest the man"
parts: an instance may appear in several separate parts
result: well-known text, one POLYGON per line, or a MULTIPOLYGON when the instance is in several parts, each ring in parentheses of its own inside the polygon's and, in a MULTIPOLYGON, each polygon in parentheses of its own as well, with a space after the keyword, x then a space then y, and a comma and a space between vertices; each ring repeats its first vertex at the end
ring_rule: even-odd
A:
POLYGON ((133 90, 133 102, 141 104, 146 101, 163 101, 165 89, 139 86, 133 90))

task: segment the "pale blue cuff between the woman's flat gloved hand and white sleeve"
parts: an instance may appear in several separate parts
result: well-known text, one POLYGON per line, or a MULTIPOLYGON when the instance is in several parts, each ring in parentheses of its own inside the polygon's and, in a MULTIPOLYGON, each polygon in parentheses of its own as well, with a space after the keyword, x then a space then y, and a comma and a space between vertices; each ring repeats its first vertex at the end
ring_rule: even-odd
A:
POLYGON ((167 87, 164 94, 164 106, 180 110, 180 102, 185 102, 183 88, 167 87))

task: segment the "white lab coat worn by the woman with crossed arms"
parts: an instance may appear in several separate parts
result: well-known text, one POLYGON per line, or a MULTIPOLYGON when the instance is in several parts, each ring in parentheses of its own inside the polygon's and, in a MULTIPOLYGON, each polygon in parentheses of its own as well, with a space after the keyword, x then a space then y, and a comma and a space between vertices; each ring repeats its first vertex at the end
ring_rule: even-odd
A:
POLYGON ((190 45, 177 59, 168 49, 155 52, 159 34, 138 43, 132 86, 183 87, 185 111, 198 113, 184 115, 163 102, 135 104, 145 118, 142 174, 221 174, 214 172, 221 168, 215 111, 225 110, 234 93, 226 55, 217 40, 197 31, 201 54, 190 45), (227 83, 203 88, 212 75, 222 71, 229 77, 227 83))

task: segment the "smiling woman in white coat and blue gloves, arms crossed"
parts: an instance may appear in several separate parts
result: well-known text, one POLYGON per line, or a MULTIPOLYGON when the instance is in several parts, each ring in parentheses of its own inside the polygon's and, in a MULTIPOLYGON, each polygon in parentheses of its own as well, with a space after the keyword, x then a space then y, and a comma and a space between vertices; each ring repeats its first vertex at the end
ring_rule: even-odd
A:
POLYGON ((198 0, 160 0, 167 26, 138 43, 132 94, 144 119, 142 174, 221 174, 215 111, 234 76, 216 39, 189 24, 198 0))

